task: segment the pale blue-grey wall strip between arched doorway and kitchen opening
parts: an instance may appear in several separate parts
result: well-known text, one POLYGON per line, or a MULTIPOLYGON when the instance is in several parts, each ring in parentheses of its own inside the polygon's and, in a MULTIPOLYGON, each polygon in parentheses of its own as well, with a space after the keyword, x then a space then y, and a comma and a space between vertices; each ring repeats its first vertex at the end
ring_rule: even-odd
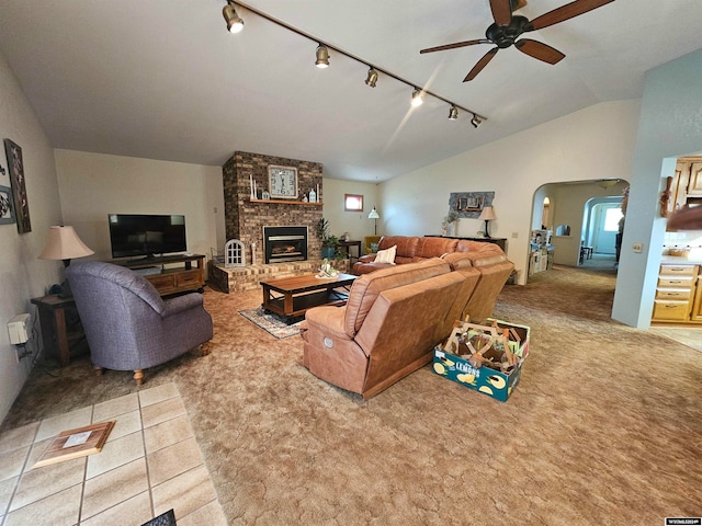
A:
POLYGON ((702 150, 702 49, 646 73, 612 317, 650 324, 666 220, 659 195, 675 160, 702 150), (632 243, 644 245, 634 253, 632 243))

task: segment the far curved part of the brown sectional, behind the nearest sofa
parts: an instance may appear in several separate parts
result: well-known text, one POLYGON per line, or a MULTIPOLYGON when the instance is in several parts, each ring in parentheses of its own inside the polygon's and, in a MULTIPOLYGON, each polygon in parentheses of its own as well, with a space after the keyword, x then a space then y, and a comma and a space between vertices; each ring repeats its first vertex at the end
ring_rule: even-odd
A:
POLYGON ((376 263, 375 254, 366 254, 359 259, 351 272, 355 275, 364 275, 381 268, 427 261, 430 258, 442 258, 458 272, 466 272, 465 268, 477 268, 480 277, 463 312, 474 321, 484 321, 492 316, 497 297, 514 270, 514 264, 507 259, 502 249, 490 242, 454 238, 384 236, 380 240, 378 250, 394 245, 397 247, 395 265, 376 263))

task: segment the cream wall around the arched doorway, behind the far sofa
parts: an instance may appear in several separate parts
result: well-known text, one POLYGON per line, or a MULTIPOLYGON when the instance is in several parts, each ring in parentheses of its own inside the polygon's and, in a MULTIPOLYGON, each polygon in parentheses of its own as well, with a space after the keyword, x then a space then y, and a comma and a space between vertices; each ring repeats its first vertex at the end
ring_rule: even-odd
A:
MULTIPOLYGON (((507 238, 524 284, 534 193, 550 182, 629 179, 638 112, 639 101, 597 104, 383 183, 384 233, 440 232, 452 192, 494 191, 490 235, 507 238)), ((461 219, 458 235, 483 225, 461 219)))

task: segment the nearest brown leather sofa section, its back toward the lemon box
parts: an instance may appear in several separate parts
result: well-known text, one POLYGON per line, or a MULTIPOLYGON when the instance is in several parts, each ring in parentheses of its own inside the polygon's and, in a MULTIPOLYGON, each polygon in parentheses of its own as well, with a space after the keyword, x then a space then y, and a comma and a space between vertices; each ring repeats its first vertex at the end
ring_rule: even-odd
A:
POLYGON ((303 364, 329 384, 373 397, 431 362, 479 276, 439 258, 366 273, 346 306, 307 311, 303 364))

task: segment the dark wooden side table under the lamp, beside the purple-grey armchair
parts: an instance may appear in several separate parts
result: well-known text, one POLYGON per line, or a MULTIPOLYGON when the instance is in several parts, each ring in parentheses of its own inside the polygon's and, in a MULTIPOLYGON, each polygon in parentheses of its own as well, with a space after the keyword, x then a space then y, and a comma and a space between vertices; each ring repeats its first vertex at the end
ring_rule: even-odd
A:
POLYGON ((70 363, 70 345, 84 341, 86 335, 78 318, 73 298, 61 298, 57 294, 33 298, 39 313, 44 351, 58 356, 61 367, 70 363))

